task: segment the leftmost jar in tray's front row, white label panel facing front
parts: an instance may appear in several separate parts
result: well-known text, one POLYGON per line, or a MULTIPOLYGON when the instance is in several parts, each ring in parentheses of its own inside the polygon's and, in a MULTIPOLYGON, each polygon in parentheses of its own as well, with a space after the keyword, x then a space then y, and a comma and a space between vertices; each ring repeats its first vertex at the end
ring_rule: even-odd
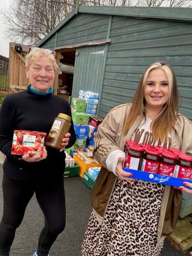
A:
POLYGON ((143 157, 143 148, 138 145, 129 145, 125 152, 125 168, 138 170, 143 157))

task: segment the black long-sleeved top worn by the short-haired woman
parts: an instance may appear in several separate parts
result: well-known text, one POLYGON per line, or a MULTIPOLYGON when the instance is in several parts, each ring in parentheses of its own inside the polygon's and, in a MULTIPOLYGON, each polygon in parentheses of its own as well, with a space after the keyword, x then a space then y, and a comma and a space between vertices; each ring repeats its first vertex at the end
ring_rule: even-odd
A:
MULTIPOLYGON (((65 153, 46 147, 47 158, 38 163, 28 163, 20 156, 11 155, 13 131, 29 130, 46 132, 51 129, 54 118, 59 113, 71 116, 67 100, 52 93, 38 95, 28 90, 7 95, 0 110, 0 150, 6 155, 3 170, 13 179, 54 179, 61 177, 65 168, 65 153)), ((76 141, 73 124, 70 127, 72 147, 76 141)))

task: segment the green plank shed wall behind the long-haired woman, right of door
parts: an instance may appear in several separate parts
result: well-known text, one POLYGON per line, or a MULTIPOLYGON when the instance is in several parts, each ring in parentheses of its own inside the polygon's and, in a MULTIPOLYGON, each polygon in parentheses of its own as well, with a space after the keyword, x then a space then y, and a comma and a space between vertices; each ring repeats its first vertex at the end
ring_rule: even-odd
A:
POLYGON ((109 38, 99 115, 131 102, 143 70, 156 61, 165 61, 177 75, 180 113, 192 119, 191 23, 113 16, 109 38))

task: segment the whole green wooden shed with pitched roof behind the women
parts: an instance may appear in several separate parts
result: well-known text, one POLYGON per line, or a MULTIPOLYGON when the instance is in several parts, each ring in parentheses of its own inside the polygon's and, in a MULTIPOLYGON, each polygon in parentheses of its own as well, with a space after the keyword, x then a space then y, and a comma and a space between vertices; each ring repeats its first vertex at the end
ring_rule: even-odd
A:
POLYGON ((97 115, 103 117, 131 102, 148 65, 170 63, 179 111, 192 119, 192 8, 77 6, 37 46, 60 52, 60 65, 74 67, 60 74, 60 91, 99 93, 97 115))

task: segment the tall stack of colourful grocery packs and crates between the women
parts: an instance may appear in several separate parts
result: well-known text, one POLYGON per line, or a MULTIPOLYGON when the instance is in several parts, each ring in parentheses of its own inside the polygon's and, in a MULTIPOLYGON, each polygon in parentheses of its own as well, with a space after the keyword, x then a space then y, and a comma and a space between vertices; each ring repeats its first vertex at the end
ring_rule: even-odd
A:
MULTIPOLYGON (((93 184, 95 184, 101 167, 101 164, 93 158, 94 137, 99 124, 102 122, 100 116, 94 115, 97 109, 98 98, 98 93, 83 90, 79 92, 79 98, 72 98, 72 118, 77 139, 73 147, 67 149, 67 153, 74 158, 77 166, 79 166, 80 177, 91 189, 93 184), (85 92, 87 92, 86 95, 88 97, 84 97, 85 92), (93 113, 93 115, 89 115, 89 112, 93 113)), ((67 171, 69 172, 69 170, 67 171)), ((66 175, 69 174, 66 173, 66 175)))

